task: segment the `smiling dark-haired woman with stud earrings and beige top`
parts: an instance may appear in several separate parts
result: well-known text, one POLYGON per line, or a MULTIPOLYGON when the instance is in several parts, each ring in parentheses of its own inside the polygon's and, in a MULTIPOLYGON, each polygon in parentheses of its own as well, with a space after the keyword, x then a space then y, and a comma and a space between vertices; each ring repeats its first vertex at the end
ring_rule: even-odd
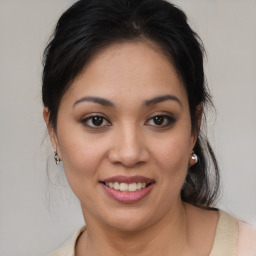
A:
POLYGON ((53 255, 255 255, 252 228, 213 208, 203 51, 163 0, 81 0, 62 15, 44 119, 86 227, 53 255))

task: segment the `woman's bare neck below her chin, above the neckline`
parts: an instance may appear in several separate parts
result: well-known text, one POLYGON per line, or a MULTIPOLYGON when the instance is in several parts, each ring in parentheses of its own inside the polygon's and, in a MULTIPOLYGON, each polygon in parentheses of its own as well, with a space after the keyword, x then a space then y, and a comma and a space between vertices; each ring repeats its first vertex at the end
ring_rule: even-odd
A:
POLYGON ((77 243, 78 256, 183 255, 188 248, 186 209, 181 201, 157 223, 141 230, 116 230, 89 216, 86 222, 86 232, 77 243))

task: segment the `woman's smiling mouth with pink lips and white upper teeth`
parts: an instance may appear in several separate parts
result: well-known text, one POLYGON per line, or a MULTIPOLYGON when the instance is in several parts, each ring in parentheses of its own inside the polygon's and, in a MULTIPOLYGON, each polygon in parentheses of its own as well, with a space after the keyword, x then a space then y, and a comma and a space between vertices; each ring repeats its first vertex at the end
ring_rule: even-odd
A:
POLYGON ((121 203, 134 203, 149 194, 155 180, 143 176, 115 176, 100 181, 107 194, 121 203))

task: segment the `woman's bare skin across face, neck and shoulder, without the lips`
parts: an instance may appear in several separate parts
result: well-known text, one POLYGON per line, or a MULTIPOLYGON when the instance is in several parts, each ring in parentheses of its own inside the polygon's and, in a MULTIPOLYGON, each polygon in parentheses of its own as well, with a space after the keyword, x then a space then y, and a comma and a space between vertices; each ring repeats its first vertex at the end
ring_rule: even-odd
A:
POLYGON ((76 256, 209 255, 218 213, 181 201, 196 134, 184 85, 158 45, 143 40, 102 49, 64 94, 57 129, 47 108, 44 118, 86 220, 76 256), (146 104, 166 95, 172 98, 146 104), (92 115, 103 123, 95 127, 92 115), (160 125, 155 116, 162 117, 160 125), (120 203, 99 183, 116 175, 155 184, 139 202, 120 203))

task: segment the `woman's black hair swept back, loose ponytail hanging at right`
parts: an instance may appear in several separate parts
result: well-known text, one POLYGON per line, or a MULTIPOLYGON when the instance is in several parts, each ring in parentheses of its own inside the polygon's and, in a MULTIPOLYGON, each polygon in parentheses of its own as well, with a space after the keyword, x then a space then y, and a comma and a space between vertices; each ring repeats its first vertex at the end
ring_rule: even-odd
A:
POLYGON ((44 52, 42 98, 50 123, 57 127, 62 96, 89 59, 115 42, 152 40, 174 64, 188 94, 194 147, 199 162, 190 167, 182 200, 202 207, 214 205, 219 170, 207 137, 198 128, 198 109, 212 106, 203 69, 204 48, 183 11, 164 0, 80 0, 59 19, 44 52))

